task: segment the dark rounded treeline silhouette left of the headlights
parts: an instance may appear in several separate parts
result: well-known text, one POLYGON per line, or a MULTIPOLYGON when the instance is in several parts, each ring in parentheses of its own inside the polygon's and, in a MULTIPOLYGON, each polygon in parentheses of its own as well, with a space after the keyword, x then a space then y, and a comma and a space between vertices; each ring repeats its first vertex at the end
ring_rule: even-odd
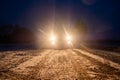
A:
POLYGON ((32 31, 19 25, 0 25, 0 44, 34 43, 35 35, 32 31))

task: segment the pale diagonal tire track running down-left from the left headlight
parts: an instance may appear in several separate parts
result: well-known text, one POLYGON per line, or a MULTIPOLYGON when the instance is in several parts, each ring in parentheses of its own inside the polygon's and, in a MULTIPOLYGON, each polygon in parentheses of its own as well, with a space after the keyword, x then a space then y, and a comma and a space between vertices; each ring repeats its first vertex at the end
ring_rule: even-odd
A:
POLYGON ((31 58, 30 60, 27 60, 24 63, 19 64, 17 67, 12 68, 11 70, 13 72, 17 72, 19 74, 28 74, 30 71, 29 67, 36 66, 42 59, 41 57, 44 57, 46 54, 48 54, 50 52, 51 52, 51 50, 44 51, 44 52, 40 53, 38 56, 35 56, 35 57, 31 58))

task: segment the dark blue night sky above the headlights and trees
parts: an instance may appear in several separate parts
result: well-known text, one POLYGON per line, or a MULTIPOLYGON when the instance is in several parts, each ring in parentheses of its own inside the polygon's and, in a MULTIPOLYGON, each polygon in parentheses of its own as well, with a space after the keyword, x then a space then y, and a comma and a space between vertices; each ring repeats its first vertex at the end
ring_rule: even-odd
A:
POLYGON ((82 19, 96 39, 120 39, 120 0, 0 0, 0 24, 35 29, 55 17, 82 19))

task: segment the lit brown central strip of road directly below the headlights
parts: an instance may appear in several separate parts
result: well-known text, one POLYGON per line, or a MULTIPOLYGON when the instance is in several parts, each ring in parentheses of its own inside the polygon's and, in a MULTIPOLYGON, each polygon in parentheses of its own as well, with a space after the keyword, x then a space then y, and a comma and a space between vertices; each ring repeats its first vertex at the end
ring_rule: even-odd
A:
MULTIPOLYGON (((37 77, 39 79, 49 79, 49 80, 75 80, 76 71, 71 63, 73 60, 68 51, 61 50, 56 53, 50 53, 44 63, 44 68, 40 67, 37 77)), ((43 64, 40 63, 39 66, 43 64)))

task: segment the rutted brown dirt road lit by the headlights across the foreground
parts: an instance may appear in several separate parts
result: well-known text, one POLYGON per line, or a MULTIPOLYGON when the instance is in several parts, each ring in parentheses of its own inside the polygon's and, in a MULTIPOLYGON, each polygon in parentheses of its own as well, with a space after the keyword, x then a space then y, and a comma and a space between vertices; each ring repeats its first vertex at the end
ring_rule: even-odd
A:
POLYGON ((120 80, 119 66, 80 49, 0 52, 0 80, 120 80))

